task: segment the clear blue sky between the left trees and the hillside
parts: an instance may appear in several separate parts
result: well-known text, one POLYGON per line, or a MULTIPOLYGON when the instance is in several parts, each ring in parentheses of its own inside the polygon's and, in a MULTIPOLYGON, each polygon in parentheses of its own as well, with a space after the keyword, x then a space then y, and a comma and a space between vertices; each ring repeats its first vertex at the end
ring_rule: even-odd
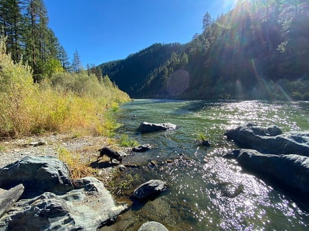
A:
POLYGON ((51 27, 70 58, 82 64, 126 58, 155 42, 189 42, 203 15, 235 0, 45 0, 51 27))

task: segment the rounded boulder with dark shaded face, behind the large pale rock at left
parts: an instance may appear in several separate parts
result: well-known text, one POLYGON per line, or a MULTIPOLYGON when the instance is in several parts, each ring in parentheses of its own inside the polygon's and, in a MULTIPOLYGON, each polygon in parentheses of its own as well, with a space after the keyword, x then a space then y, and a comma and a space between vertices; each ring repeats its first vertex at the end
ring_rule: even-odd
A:
POLYGON ((49 156, 28 156, 0 169, 0 188, 10 189, 18 184, 25 186, 24 198, 73 189, 67 167, 49 156))

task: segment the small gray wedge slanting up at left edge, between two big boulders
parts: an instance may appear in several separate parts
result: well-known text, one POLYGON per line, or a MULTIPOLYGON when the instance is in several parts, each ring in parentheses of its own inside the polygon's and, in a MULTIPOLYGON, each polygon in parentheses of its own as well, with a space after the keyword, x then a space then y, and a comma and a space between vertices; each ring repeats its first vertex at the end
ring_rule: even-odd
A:
POLYGON ((8 210, 12 208, 15 202, 17 202, 19 197, 23 194, 24 189, 23 184, 19 184, 14 188, 0 194, 0 218, 5 214, 5 212, 8 212, 8 210))

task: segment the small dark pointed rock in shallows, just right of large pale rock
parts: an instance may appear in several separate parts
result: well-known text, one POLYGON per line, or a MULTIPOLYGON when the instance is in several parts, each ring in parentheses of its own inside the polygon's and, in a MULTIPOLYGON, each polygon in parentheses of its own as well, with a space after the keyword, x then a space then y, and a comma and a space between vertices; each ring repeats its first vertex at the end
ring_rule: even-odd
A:
POLYGON ((149 180, 135 189, 133 196, 138 199, 147 199, 148 197, 161 193, 167 189, 168 184, 166 184, 166 182, 161 180, 149 180))

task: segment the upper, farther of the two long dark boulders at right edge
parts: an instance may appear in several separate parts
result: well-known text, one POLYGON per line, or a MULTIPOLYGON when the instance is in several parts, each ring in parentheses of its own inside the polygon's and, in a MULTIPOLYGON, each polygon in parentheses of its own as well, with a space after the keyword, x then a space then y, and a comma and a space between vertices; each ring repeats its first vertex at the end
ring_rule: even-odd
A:
POLYGON ((309 131, 282 134, 278 127, 258 127, 249 123, 228 130, 225 134, 241 148, 256 149, 264 154, 309 156, 309 131))

